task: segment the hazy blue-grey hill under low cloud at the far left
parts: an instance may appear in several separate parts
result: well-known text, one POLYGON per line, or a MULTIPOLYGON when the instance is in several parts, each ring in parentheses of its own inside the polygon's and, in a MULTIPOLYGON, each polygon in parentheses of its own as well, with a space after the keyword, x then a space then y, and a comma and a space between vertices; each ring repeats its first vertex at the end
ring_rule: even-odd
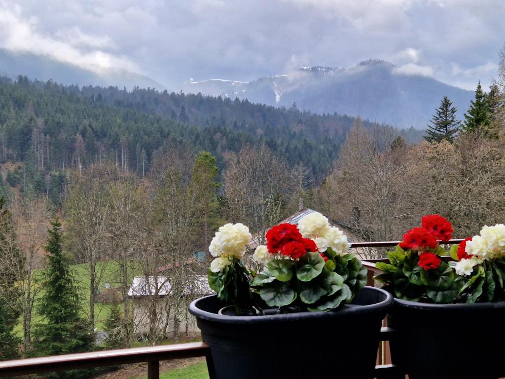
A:
POLYGON ((15 79, 19 74, 42 81, 53 79, 58 83, 68 85, 112 85, 121 89, 126 86, 128 90, 133 89, 134 86, 156 88, 160 91, 166 89, 156 80, 126 70, 97 74, 48 57, 34 54, 13 54, 5 49, 0 49, 0 75, 15 79))

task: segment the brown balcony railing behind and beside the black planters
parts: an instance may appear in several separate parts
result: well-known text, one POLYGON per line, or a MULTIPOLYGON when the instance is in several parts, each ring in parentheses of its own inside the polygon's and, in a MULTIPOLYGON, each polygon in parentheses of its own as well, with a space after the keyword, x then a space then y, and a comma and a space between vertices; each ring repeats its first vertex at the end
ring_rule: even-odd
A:
MULTIPOLYGON (((450 240, 444 244, 459 244, 463 240, 450 240)), ((396 246, 398 241, 360 242, 352 244, 352 248, 381 248, 396 246)), ((375 267, 376 262, 386 259, 363 260, 368 268, 368 285, 374 285, 373 276, 380 272, 375 267)), ((381 341, 375 366, 377 379, 405 379, 405 374, 391 364, 388 341, 394 338, 394 330, 387 326, 381 329, 381 341)), ((122 364, 147 362, 147 378, 159 379, 160 361, 171 359, 186 359, 206 357, 210 379, 215 379, 212 367, 212 357, 205 342, 195 342, 168 346, 155 346, 134 349, 108 350, 81 354, 58 355, 53 357, 28 358, 0 362, 0 377, 20 376, 43 372, 65 371, 78 368, 93 368, 117 366, 122 364)))

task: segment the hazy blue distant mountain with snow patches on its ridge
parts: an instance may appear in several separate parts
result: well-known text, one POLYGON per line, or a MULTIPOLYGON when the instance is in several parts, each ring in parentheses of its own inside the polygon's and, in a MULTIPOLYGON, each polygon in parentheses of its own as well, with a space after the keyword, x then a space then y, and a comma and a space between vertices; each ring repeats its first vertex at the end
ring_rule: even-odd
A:
POLYGON ((315 113, 360 115, 399 128, 426 128, 444 96, 463 119, 474 93, 421 75, 402 73, 391 63, 370 60, 352 68, 301 67, 293 72, 251 82, 224 79, 189 81, 177 88, 254 103, 315 113))

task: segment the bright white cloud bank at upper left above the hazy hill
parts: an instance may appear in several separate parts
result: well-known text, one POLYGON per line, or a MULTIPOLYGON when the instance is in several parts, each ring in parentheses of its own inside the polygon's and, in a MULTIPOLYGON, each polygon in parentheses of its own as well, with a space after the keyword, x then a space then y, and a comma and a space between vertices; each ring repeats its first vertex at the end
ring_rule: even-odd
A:
POLYGON ((111 47, 107 36, 94 38, 82 33, 79 28, 68 33, 57 31, 53 36, 39 30, 35 16, 23 16, 19 5, 0 3, 0 47, 14 53, 32 53, 47 56, 57 61, 72 64, 96 73, 107 70, 138 68, 128 58, 116 56, 96 48, 111 47), (79 48, 85 46, 86 51, 79 48))

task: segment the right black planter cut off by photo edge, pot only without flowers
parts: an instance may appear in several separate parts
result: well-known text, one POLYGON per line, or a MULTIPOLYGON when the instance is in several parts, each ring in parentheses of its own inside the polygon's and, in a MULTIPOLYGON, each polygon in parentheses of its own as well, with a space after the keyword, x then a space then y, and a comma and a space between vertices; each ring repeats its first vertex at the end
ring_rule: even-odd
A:
POLYGON ((424 304, 394 299, 392 362, 409 379, 505 376, 505 302, 424 304))

